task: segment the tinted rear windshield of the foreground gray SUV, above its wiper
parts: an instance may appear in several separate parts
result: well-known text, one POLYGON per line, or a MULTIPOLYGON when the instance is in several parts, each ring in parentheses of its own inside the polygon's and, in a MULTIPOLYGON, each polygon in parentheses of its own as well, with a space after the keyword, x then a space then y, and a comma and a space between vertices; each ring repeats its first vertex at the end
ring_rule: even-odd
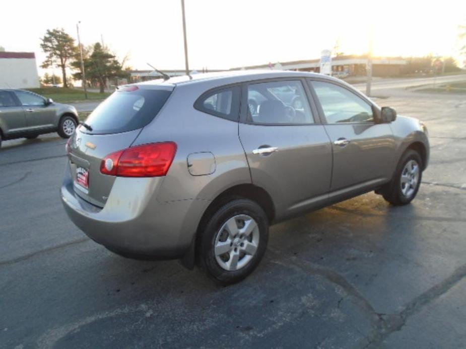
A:
POLYGON ((120 133, 149 124, 170 96, 171 91, 138 89, 136 86, 115 91, 89 115, 86 124, 92 134, 120 133), (128 91, 130 90, 130 91, 128 91))

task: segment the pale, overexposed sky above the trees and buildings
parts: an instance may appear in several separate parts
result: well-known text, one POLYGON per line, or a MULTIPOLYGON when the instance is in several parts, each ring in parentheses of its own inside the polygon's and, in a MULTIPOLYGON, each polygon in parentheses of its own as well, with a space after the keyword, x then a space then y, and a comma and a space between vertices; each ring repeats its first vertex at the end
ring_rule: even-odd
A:
MULTIPOLYGON (((133 69, 184 69, 180 0, 15 0, 7 9, 0 46, 35 52, 38 65, 46 30, 77 38, 81 21, 84 45, 103 37, 133 69)), ((185 11, 191 70, 314 59, 337 40, 340 51, 363 54, 371 38, 377 56, 457 57, 458 25, 466 24, 465 0, 185 0, 185 11)))

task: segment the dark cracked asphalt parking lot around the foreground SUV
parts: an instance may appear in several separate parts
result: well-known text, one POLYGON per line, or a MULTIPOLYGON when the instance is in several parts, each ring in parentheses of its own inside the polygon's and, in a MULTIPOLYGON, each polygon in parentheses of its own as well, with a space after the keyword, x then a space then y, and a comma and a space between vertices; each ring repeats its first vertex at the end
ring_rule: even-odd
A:
POLYGON ((229 287, 89 240, 59 200, 65 141, 5 142, 0 347, 466 347, 466 98, 378 103, 428 126, 417 199, 369 193, 275 225, 258 269, 229 287))

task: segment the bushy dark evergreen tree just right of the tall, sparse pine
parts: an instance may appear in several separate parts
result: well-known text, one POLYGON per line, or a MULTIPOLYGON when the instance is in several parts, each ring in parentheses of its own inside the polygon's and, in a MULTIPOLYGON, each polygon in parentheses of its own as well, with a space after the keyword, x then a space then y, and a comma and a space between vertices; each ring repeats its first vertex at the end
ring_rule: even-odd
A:
MULTIPOLYGON (((73 62, 73 67, 81 70, 81 58, 73 62)), ((91 84, 97 82, 100 88, 100 93, 104 92, 107 86, 107 79, 114 77, 125 77, 127 72, 122 70, 121 64, 113 54, 103 48, 100 43, 94 44, 92 52, 84 55, 84 70, 86 71, 86 80, 91 84)), ((81 71, 73 74, 75 79, 82 79, 81 71)))

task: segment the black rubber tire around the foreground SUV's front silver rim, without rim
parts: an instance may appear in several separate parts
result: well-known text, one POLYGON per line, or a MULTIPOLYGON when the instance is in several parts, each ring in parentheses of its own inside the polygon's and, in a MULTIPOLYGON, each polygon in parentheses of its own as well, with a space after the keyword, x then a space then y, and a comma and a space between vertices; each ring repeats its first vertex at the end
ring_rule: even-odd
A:
POLYGON ((421 185, 422 166, 422 159, 419 153, 415 150, 408 149, 401 157, 400 162, 398 162, 391 182, 382 189, 381 194, 383 198, 392 205, 407 205, 413 201, 413 199, 416 197, 416 194, 418 193, 419 186, 421 185), (402 173, 405 170, 405 166, 408 164, 408 162, 412 160, 414 160, 419 166, 419 177, 415 188, 413 188, 414 191, 412 191, 412 193, 407 196, 402 191, 402 173))

